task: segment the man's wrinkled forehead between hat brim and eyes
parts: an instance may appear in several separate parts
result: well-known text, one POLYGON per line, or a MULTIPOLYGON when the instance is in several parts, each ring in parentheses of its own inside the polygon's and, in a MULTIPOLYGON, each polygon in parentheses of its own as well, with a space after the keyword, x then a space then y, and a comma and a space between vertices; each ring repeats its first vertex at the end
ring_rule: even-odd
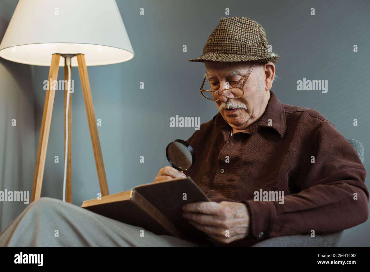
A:
POLYGON ((220 62, 204 61, 207 79, 223 78, 228 76, 244 76, 248 73, 253 63, 250 61, 243 62, 220 62))

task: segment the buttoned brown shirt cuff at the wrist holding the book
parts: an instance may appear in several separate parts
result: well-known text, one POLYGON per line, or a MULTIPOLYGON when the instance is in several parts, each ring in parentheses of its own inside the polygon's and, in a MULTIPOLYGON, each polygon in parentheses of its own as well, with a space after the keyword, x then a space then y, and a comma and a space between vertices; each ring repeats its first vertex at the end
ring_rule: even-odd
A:
POLYGON ((276 206, 271 201, 241 201, 246 204, 249 212, 249 235, 247 239, 264 240, 270 237, 272 223, 276 218, 276 206))

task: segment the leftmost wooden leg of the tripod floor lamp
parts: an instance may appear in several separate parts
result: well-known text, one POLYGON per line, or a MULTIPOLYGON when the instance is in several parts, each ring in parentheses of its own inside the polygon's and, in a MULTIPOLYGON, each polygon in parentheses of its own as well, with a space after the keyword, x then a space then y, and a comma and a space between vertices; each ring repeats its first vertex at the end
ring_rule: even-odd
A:
POLYGON ((46 150, 47 150, 47 143, 49 140, 50 122, 51 122, 51 115, 53 113, 53 105, 54 105, 54 97, 55 97, 55 89, 53 88, 53 84, 50 84, 50 80, 51 80, 51 83, 53 83, 53 80, 57 80, 58 78, 59 60, 60 60, 60 54, 53 54, 51 58, 49 77, 48 77, 49 90, 46 91, 46 95, 45 95, 43 118, 41 121, 41 128, 40 128, 40 138, 38 140, 36 167, 35 167, 35 174, 33 178, 31 202, 39 199, 41 196, 41 187, 43 184, 46 150))

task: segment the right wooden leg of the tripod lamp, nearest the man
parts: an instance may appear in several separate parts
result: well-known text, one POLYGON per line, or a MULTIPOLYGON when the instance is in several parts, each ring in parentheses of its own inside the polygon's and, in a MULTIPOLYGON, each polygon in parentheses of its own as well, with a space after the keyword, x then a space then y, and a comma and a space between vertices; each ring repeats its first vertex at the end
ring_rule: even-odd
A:
POLYGON ((87 67, 85 63, 84 54, 77 54, 78 72, 80 73, 81 87, 84 95, 85 108, 87 114, 87 121, 90 129, 90 136, 92 142, 92 150, 94 151, 95 164, 98 172, 98 179, 100 185, 101 195, 109 195, 107 177, 105 176, 105 169, 103 157, 101 154, 101 147, 98 135, 98 127, 95 119, 94 104, 92 103, 92 96, 90 90, 90 83, 87 74, 87 67))

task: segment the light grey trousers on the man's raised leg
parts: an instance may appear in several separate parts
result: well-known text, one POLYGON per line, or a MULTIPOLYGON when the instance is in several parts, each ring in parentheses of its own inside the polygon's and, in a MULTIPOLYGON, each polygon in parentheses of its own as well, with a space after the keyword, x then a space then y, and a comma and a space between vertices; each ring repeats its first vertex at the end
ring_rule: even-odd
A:
POLYGON ((0 246, 196 246, 59 199, 32 202, 0 234, 0 246))

